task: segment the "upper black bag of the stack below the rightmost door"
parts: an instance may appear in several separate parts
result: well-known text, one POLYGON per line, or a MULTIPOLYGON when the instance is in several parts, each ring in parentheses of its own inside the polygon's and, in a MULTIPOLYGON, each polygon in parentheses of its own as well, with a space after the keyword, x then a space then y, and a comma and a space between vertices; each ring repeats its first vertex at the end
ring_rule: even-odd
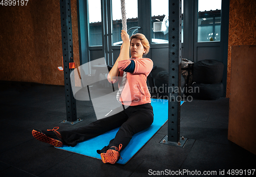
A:
POLYGON ((193 82, 217 84, 222 81, 224 64, 217 60, 201 60, 193 67, 193 82))

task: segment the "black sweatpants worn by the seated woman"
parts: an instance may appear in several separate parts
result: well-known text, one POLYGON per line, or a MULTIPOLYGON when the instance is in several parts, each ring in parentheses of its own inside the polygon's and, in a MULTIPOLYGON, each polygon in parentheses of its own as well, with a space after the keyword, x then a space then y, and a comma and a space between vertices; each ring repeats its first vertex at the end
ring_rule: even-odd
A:
POLYGON ((80 127, 71 131, 60 131, 64 144, 75 146, 77 142, 88 140, 120 127, 109 145, 101 150, 97 150, 97 152, 99 154, 103 153, 103 151, 111 146, 118 147, 119 144, 122 144, 122 149, 124 149, 134 134, 150 127, 154 120, 153 108, 150 103, 129 106, 121 112, 117 112, 117 110, 120 109, 113 110, 110 116, 96 120, 86 127, 80 127))

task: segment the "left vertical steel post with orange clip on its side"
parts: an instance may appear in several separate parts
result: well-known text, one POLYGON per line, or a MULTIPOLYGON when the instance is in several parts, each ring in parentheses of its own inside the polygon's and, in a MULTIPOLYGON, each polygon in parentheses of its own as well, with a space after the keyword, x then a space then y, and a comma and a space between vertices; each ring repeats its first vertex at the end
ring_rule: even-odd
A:
MULTIPOLYGON (((71 23, 71 3, 70 0, 60 0, 60 19, 61 19, 61 39, 63 55, 63 71, 65 80, 66 110, 67 121, 74 124, 77 121, 76 100, 74 98, 70 73, 74 69, 69 68, 69 63, 74 62, 73 58, 73 40, 71 23)), ((72 79, 74 81, 74 79, 72 79)))

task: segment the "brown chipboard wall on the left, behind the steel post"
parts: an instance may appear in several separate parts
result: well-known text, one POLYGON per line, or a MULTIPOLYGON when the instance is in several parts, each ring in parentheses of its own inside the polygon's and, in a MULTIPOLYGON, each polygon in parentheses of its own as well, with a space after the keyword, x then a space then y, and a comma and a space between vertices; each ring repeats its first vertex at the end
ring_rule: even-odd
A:
MULTIPOLYGON (((76 0, 71 0, 73 49, 79 66, 76 0)), ((0 80, 64 85, 59 1, 1 6, 0 80)))

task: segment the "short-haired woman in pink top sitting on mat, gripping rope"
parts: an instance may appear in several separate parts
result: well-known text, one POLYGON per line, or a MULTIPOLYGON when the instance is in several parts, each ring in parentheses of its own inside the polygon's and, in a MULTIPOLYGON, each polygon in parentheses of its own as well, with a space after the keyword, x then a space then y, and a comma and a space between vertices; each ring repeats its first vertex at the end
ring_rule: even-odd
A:
POLYGON ((62 144, 75 146, 77 142, 120 127, 109 145, 97 150, 103 163, 114 164, 120 158, 120 151, 127 146, 133 135, 150 127, 154 114, 146 78, 153 68, 153 62, 151 59, 142 58, 148 53, 150 44, 143 34, 135 34, 129 39, 129 35, 122 30, 121 37, 123 44, 120 54, 109 72, 108 80, 115 83, 124 71, 127 72, 127 82, 119 99, 126 109, 121 112, 115 109, 108 117, 71 131, 57 131, 58 128, 47 131, 33 130, 34 138, 55 147, 61 147, 62 144), (129 55, 130 50, 132 58, 129 55))

